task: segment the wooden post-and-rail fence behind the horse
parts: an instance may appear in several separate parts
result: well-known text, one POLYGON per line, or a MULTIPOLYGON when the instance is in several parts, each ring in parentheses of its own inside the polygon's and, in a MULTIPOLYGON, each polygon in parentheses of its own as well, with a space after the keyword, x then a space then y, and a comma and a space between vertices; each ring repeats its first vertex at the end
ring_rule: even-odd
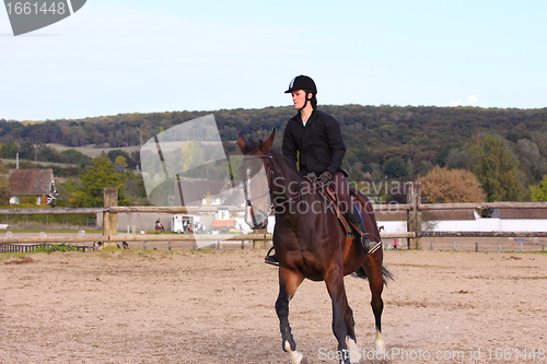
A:
MULTIPOLYGON (((427 237, 547 237, 547 231, 542 232, 431 232, 421 231, 421 212, 431 210, 465 210, 465 209, 547 209, 547 202, 479 202, 479 203, 421 203, 421 190, 418 183, 408 184, 408 203, 373 206, 375 211, 406 211, 407 232, 384 233, 382 238, 407 238, 409 249, 422 249, 422 239, 427 237)), ((28 215, 28 214, 96 214, 103 212, 103 235, 85 236, 37 236, 0 238, 0 245, 36 245, 36 244, 78 244, 103 242, 105 246, 116 245, 119 242, 182 242, 182 240, 210 240, 210 242, 244 242, 252 240, 253 248, 266 248, 271 240, 271 235, 265 230, 255 231, 254 234, 203 234, 203 235, 118 235, 117 214, 121 212, 166 212, 166 213, 202 213, 217 212, 216 207, 118 207, 117 188, 104 189, 103 208, 55 208, 55 209, 1 209, 0 215, 28 215)), ((230 208, 230 211, 241 211, 230 208)), ((547 227, 547 226, 546 226, 547 227)), ((544 247, 545 250, 545 247, 544 247)))

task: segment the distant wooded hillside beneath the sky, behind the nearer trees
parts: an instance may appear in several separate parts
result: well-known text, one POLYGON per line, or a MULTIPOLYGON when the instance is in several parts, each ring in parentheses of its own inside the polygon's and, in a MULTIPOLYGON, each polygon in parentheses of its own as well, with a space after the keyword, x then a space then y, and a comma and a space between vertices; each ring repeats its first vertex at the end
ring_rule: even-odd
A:
MULTIPOLYGON (((431 106, 361 106, 319 105, 341 125, 348 153, 345 167, 351 172, 369 172, 376 178, 386 173, 387 161, 403 161, 408 177, 446 165, 466 143, 478 134, 498 134, 508 145, 527 140, 547 157, 547 108, 500 109, 479 107, 431 106), (451 152, 452 151, 452 152, 451 152)), ((268 136, 271 129, 284 129, 294 115, 292 107, 261 109, 222 109, 217 111, 172 111, 124 114, 78 120, 47 120, 22 125, 0 120, 0 142, 32 141, 71 146, 89 144, 104 148, 140 145, 162 130, 181 122, 214 114, 223 140, 235 140, 237 133, 255 139, 268 136)), ((276 148, 280 148, 278 132, 276 148)), ((235 145, 226 145, 233 151, 235 145)), ((519 151, 513 151, 519 158, 519 151)))

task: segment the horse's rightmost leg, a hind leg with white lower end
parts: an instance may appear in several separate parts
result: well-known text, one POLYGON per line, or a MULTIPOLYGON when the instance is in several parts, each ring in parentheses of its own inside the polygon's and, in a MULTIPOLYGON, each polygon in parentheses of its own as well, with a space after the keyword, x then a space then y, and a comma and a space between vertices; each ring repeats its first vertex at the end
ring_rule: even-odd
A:
POLYGON ((384 302, 382 301, 382 292, 384 290, 384 278, 382 275, 382 255, 381 249, 376 250, 373 255, 365 260, 363 268, 369 278, 369 286, 372 293, 372 313, 374 314, 374 321, 376 326, 376 337, 374 340, 374 348, 376 352, 382 352, 385 348, 382 338, 382 310, 384 309, 384 302))

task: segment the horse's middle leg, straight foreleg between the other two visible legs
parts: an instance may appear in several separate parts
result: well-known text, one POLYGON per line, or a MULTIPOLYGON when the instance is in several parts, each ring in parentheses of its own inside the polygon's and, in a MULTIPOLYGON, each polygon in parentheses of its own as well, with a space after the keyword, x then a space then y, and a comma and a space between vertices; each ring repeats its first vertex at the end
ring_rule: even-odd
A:
POLYGON ((346 296, 342 269, 334 268, 329 271, 325 283, 333 301, 333 332, 338 340, 340 363, 357 363, 360 359, 359 348, 356 343, 353 312, 346 296))

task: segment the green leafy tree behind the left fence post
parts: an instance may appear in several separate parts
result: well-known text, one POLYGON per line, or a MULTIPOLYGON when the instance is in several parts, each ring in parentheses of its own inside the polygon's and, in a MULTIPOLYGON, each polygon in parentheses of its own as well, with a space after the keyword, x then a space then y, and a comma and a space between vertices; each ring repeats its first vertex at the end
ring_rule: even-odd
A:
POLYGON ((118 206, 127 206, 123 196, 126 176, 116 171, 104 153, 93 158, 93 167, 80 174, 81 186, 72 193, 70 203, 77 208, 100 208, 103 206, 103 189, 118 188, 118 206))

